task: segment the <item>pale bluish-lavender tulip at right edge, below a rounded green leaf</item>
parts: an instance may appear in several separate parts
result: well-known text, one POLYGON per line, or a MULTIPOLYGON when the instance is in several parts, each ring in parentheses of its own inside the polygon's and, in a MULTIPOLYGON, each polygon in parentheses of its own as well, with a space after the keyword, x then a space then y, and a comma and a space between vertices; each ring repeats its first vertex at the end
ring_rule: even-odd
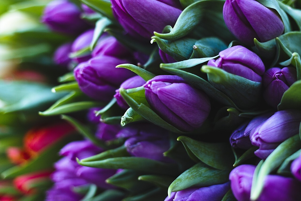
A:
POLYGON ((254 154, 262 159, 267 158, 281 142, 299 133, 300 122, 301 111, 275 112, 250 133, 252 145, 259 147, 254 154))

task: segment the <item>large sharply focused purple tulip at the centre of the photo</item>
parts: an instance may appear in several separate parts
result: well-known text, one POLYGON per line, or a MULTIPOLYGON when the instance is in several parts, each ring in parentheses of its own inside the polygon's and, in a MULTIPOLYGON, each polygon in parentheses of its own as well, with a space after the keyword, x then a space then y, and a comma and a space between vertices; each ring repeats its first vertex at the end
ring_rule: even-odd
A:
POLYGON ((167 123, 181 131, 192 131, 207 119, 207 95, 176 75, 159 75, 144 85, 151 108, 167 123))

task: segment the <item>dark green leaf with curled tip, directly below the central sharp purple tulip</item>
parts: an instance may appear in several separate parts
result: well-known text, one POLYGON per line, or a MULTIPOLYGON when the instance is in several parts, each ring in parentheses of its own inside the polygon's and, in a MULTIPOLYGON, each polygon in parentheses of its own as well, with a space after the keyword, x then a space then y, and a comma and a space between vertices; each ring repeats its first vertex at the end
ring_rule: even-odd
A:
POLYGON ((221 170, 233 169, 234 156, 228 143, 209 143, 180 136, 177 139, 185 146, 188 155, 195 155, 203 163, 221 170))

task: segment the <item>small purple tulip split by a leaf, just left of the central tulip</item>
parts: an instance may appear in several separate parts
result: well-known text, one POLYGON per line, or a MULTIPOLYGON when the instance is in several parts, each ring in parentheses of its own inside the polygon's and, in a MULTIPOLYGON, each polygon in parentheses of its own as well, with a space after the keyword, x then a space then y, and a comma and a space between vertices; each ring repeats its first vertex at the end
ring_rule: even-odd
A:
MULTIPOLYGON (((142 79, 139 75, 134 76, 132 78, 127 79, 124 81, 121 85, 120 88, 124 89, 131 89, 131 88, 136 88, 136 87, 141 87, 142 85, 145 84, 144 79, 142 79)), ((123 108, 123 109, 128 109, 129 105, 126 103, 126 101, 123 99, 123 97, 119 93, 119 89, 116 90, 116 94, 114 97, 117 100, 117 104, 123 108)))

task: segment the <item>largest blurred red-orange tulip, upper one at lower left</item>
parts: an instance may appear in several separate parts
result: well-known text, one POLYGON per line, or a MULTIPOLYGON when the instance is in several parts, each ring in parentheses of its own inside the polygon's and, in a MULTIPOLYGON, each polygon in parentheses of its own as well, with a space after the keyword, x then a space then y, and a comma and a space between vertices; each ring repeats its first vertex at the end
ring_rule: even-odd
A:
POLYGON ((66 122, 31 129, 24 136, 25 150, 35 156, 72 131, 73 126, 66 122))

